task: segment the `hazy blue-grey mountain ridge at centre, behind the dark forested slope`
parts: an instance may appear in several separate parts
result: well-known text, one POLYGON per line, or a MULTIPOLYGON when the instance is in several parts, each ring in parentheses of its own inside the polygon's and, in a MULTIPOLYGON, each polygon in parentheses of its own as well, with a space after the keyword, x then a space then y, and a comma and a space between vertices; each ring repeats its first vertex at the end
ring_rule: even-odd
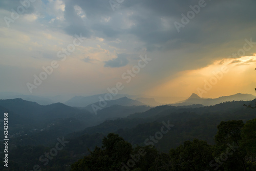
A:
POLYGON ((94 112, 93 111, 93 106, 94 108, 100 108, 100 109, 104 109, 104 108, 108 108, 112 105, 122 105, 122 106, 139 106, 139 105, 146 105, 138 100, 133 100, 127 97, 122 97, 116 100, 110 100, 110 101, 97 101, 96 103, 92 103, 90 105, 87 105, 85 109, 87 109, 90 112, 94 112))

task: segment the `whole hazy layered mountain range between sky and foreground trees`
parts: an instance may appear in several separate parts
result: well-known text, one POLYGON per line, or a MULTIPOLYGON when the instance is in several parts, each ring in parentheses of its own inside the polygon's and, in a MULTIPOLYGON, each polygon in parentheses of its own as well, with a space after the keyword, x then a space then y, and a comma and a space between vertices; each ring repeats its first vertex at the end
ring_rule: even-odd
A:
MULTIPOLYGON (((105 106, 97 111, 97 115, 92 113, 90 108, 92 105, 99 105, 98 102, 81 108, 59 102, 40 105, 17 98, 0 100, 0 113, 8 112, 8 137, 12 149, 9 152, 10 162, 16 162, 16 165, 23 166, 23 170, 26 170, 33 168, 34 163, 38 162, 38 157, 52 149, 56 139, 62 137, 69 143, 59 152, 58 157, 54 158, 52 164, 47 166, 49 168, 55 167, 56 163, 70 166, 84 155, 90 154, 88 149, 94 151, 95 145, 101 146, 101 140, 109 133, 120 135, 132 145, 144 146, 145 140, 157 136, 166 124, 174 126, 161 140, 155 141, 154 145, 160 152, 168 153, 170 148, 194 138, 214 144, 217 125, 221 121, 245 122, 255 118, 255 110, 244 106, 254 105, 256 99, 248 101, 253 98, 253 95, 236 94, 209 99, 192 94, 188 99, 176 104, 153 108, 146 103, 155 105, 154 99, 133 100, 121 97, 105 101, 105 106), (247 101, 241 101, 243 99, 247 101), (210 105, 217 102, 220 103, 210 105)), ((4 115, 0 115, 2 130, 3 119, 4 115)), ((0 134, 0 142, 3 139, 4 134, 0 134)), ((0 143, 1 149, 3 146, 4 144, 0 143)), ((0 166, 0 169, 3 170, 3 166, 0 166)))

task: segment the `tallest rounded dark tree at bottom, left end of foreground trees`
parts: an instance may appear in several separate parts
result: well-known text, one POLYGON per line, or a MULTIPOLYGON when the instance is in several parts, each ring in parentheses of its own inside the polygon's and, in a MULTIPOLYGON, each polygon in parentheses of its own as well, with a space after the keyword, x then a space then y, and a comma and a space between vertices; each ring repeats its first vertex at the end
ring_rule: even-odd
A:
POLYGON ((132 153, 132 145, 117 134, 110 133, 102 140, 102 147, 95 147, 89 156, 72 164, 72 171, 109 171, 119 170, 121 163, 126 162, 132 153))

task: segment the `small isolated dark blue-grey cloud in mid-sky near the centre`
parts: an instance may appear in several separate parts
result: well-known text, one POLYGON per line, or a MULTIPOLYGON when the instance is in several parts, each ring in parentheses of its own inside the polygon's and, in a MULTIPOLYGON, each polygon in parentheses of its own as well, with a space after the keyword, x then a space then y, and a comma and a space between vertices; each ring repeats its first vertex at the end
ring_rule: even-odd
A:
POLYGON ((127 54, 117 54, 117 58, 105 61, 104 67, 118 68, 124 67, 129 63, 127 59, 127 54))

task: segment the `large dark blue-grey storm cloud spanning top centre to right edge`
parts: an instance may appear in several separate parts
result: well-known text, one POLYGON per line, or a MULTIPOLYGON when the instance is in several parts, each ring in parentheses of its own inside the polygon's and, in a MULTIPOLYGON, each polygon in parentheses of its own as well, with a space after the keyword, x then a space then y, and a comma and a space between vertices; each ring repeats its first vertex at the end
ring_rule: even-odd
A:
MULTIPOLYGON (((189 23, 176 30, 174 22, 181 23, 181 14, 191 11, 191 6, 198 5, 193 1, 155 1, 155 0, 124 0, 120 8, 112 10, 109 1, 66 1, 65 18, 68 26, 65 31, 73 35, 83 33, 83 36, 102 37, 115 40, 133 35, 144 43, 148 51, 171 50, 186 47, 187 44, 224 44, 237 39, 244 39, 250 35, 246 28, 256 22, 254 7, 256 1, 205 1, 206 6, 190 19, 189 23), (78 5, 86 14, 90 22, 84 22, 74 12, 78 5), (121 29, 122 17, 125 12, 132 15, 126 17, 134 25, 128 29, 121 29), (120 15, 119 18, 116 15, 120 15), (121 17, 122 16, 122 17, 121 17), (115 17, 107 23, 102 23, 102 17, 115 17), (161 19, 167 18, 169 28, 164 28, 161 19)), ((253 37, 254 34, 250 35, 253 37)), ((253 37, 256 38, 256 37, 253 37)))

